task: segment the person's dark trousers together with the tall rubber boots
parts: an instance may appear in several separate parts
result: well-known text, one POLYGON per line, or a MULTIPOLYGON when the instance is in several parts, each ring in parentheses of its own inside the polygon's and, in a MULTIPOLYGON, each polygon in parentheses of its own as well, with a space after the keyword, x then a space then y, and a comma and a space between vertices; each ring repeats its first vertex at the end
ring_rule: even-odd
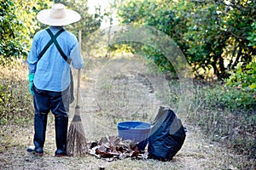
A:
MULTIPOLYGON (((44 141, 49 111, 55 115, 55 142, 57 153, 66 154, 69 112, 69 88, 62 92, 40 90, 34 87, 34 139, 36 152, 44 152, 44 141)), ((56 153, 55 153, 56 154, 56 153)))

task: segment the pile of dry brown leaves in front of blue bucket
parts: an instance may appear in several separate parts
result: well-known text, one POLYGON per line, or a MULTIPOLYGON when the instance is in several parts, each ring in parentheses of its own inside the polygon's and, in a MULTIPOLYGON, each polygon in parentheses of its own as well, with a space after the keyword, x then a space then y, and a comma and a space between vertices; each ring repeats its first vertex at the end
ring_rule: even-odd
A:
POLYGON ((122 140, 116 136, 102 137, 100 141, 88 144, 89 154, 106 161, 125 159, 127 157, 146 160, 148 152, 139 150, 138 143, 132 140, 122 140))

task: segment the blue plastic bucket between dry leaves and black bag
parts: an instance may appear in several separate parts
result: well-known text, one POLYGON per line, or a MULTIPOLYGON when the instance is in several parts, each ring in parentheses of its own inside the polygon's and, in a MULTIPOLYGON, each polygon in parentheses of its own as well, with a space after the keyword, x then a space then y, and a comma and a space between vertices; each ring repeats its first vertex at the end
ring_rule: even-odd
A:
POLYGON ((151 124, 147 122, 119 122, 119 137, 123 140, 130 139, 136 143, 139 143, 138 149, 144 150, 148 144, 148 133, 150 131, 150 127, 151 124))

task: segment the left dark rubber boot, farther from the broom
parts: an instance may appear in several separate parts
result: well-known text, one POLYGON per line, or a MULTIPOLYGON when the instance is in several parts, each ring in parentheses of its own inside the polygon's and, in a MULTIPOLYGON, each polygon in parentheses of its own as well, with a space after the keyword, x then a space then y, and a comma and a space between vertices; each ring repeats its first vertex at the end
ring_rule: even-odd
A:
POLYGON ((45 113, 36 113, 34 116, 34 139, 33 143, 35 145, 35 154, 38 156, 44 155, 44 141, 45 132, 47 127, 47 116, 45 113))

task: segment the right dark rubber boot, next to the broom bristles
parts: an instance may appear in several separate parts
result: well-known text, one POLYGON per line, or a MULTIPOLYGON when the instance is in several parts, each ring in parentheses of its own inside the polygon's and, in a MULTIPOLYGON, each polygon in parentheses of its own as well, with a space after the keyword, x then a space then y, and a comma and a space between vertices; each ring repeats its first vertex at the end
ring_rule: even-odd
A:
POLYGON ((55 116, 55 156, 67 156, 67 126, 68 117, 55 116))

